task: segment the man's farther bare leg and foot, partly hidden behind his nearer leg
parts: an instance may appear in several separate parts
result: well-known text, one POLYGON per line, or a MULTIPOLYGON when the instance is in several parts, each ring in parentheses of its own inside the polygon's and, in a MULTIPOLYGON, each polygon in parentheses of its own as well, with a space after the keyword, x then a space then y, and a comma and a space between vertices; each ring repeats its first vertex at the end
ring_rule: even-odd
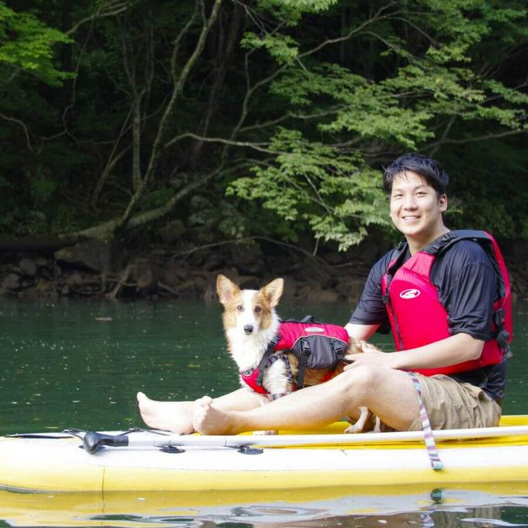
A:
MULTIPOLYGON (((192 416, 196 402, 159 402, 145 393, 138 393, 141 418, 149 427, 172 431, 176 434, 190 434, 194 431, 192 416)), ((211 399, 215 408, 224 411, 247 411, 262 404, 262 398, 240 388, 232 393, 211 399)))

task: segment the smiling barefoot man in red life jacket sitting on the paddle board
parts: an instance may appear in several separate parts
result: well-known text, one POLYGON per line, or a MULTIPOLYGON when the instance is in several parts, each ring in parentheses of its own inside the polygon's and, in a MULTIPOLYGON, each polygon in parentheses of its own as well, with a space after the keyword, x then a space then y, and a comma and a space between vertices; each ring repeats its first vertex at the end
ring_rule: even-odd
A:
POLYGON ((366 406, 382 430, 412 431, 422 429, 423 405, 433 429, 496 426, 511 339, 509 279, 492 237, 445 226, 448 180, 418 154, 383 174, 390 217, 405 240, 374 264, 346 328, 368 340, 390 325, 397 353, 365 345, 363 354, 345 356, 342 374, 265 406, 243 388, 197 402, 138 393, 143 420, 178 433, 237 434, 321 427, 366 406))

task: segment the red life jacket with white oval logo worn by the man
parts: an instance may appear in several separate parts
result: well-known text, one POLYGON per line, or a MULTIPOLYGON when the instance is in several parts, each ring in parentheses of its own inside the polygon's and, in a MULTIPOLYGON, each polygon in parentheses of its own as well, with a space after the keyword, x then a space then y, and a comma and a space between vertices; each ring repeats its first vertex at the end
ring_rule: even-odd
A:
POLYGON ((495 239, 485 231, 449 231, 431 245, 418 251, 406 263, 401 260, 406 244, 397 248, 397 256, 388 265, 381 281, 381 291, 386 304, 390 326, 397 350, 429 345, 451 336, 447 311, 438 299, 438 290, 431 282, 431 267, 438 254, 460 240, 478 242, 490 258, 497 274, 498 299, 493 304, 491 333, 493 338, 484 343, 479 359, 464 361, 441 368, 416 369, 426 376, 454 374, 476 370, 486 365, 500 363, 509 357, 512 338, 510 282, 504 258, 495 239))

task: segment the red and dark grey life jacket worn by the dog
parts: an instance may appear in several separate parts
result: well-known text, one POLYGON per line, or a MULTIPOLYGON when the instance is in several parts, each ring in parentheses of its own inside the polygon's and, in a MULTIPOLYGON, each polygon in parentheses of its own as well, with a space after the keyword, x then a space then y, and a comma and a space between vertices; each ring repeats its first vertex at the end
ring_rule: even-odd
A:
MULTIPOLYGON (((277 361, 277 358, 281 358, 275 352, 288 351, 299 358, 299 374, 297 379, 292 378, 291 381, 295 388, 302 387, 306 368, 336 370, 338 361, 347 352, 348 344, 348 332, 338 324, 314 322, 311 315, 304 317, 302 321, 281 321, 277 336, 268 345, 258 367, 240 372, 240 377, 256 393, 267 394, 262 386, 264 370, 277 361)), ((332 372, 329 372, 328 379, 331 376, 332 372)))

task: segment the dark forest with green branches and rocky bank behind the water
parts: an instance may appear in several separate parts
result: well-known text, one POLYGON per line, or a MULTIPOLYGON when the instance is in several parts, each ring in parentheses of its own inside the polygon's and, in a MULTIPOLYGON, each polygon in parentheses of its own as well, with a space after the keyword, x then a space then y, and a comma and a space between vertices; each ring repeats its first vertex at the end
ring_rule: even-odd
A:
POLYGON ((1 292, 353 299, 419 151, 528 295, 525 1, 0 1, 0 91, 1 292))

